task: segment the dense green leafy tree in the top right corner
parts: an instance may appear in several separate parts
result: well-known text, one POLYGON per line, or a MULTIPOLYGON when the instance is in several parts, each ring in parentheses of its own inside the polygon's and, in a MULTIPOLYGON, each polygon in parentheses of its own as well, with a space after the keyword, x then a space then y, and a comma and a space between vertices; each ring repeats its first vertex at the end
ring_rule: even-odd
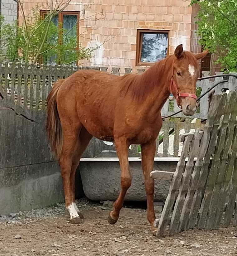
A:
POLYGON ((198 4, 198 36, 200 44, 218 56, 223 70, 237 71, 237 1, 192 0, 198 4))

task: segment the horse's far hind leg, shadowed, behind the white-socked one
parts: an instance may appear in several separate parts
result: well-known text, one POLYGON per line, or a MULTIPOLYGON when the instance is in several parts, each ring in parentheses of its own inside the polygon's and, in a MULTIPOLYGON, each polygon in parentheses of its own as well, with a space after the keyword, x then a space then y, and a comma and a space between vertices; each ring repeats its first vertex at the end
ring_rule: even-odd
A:
POLYGON ((72 159, 71 174, 70 174, 70 184, 71 184, 71 190, 72 190, 73 204, 74 204, 75 210, 77 211, 81 219, 83 219, 84 216, 82 215, 82 213, 80 212, 80 210, 78 209, 75 203, 75 174, 76 174, 76 169, 80 162, 80 158, 82 157, 82 154, 85 151, 91 139, 92 139, 92 135, 88 133, 88 131, 84 127, 82 127, 79 134, 78 141, 75 146, 73 159, 72 159))

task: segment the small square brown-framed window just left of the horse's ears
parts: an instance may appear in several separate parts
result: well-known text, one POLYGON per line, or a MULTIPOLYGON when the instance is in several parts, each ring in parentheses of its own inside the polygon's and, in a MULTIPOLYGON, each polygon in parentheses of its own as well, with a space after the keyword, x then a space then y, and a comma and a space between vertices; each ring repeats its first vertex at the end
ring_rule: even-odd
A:
POLYGON ((168 55, 168 30, 137 30, 136 65, 150 66, 168 55))

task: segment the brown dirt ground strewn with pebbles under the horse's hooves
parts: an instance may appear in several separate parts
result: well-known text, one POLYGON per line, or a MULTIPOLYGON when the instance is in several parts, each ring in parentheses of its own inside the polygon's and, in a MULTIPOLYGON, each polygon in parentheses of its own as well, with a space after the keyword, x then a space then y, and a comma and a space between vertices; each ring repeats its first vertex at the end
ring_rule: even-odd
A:
POLYGON ((114 226, 108 224, 108 211, 101 205, 81 209, 85 219, 80 225, 72 225, 66 212, 32 223, 0 224, 0 255, 237 255, 236 227, 157 238, 144 209, 123 208, 114 226))

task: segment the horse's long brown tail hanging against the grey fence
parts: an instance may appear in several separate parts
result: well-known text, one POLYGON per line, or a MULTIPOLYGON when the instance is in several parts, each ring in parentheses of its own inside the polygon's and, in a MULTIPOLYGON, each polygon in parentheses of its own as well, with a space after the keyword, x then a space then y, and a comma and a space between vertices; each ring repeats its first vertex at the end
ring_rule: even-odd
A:
POLYGON ((59 79, 57 82, 55 82, 47 97, 46 130, 48 133, 51 150, 54 152, 57 158, 59 158, 62 150, 63 134, 56 98, 59 87, 60 85, 62 85, 63 82, 63 79, 59 79))

